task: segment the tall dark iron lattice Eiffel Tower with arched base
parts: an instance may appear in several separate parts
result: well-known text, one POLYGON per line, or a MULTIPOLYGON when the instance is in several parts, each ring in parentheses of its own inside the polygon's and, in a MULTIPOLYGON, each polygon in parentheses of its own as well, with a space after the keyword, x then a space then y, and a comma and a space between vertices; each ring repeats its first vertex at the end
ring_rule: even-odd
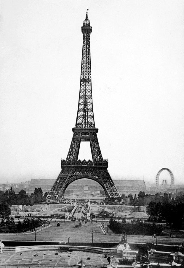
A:
POLYGON ((66 160, 61 160, 61 172, 52 186, 47 200, 59 201, 64 197, 70 183, 81 178, 95 180, 104 191, 106 198, 119 197, 119 192, 108 173, 108 160, 104 160, 98 143, 92 103, 90 34, 92 27, 86 13, 83 22, 83 46, 81 80, 76 125, 72 128, 73 138, 66 160), (89 141, 92 161, 78 160, 81 141, 89 141))

